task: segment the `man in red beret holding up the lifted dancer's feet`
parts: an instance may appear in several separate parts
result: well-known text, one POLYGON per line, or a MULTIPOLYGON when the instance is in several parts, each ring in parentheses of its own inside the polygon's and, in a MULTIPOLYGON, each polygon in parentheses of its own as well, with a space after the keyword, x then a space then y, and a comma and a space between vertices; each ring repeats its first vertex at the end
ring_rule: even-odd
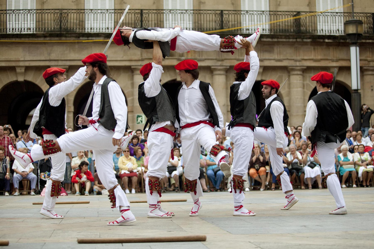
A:
MULTIPOLYGON (((228 125, 231 141, 235 144, 232 164, 231 193, 234 197, 234 216, 254 216, 256 213, 243 206, 244 179, 248 172, 253 147, 253 129, 256 126, 256 98, 252 92, 260 62, 252 44, 242 39, 245 48, 244 62, 234 66, 235 81, 230 87, 230 112, 232 119, 228 125)), ((226 129, 227 131, 227 129, 226 129)), ((248 180, 248 178, 246 179, 248 180)), ((263 185, 266 176, 263 177, 263 185)))

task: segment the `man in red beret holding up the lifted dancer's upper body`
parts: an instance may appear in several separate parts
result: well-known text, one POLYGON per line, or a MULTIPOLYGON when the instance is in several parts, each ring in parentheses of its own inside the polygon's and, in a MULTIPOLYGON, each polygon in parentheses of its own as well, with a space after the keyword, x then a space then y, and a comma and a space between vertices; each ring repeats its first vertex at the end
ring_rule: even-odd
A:
POLYGON ((148 150, 150 160, 146 174, 149 218, 171 218, 174 213, 161 208, 161 182, 165 177, 170 150, 175 137, 175 109, 167 91, 161 86, 162 53, 158 41, 153 41, 153 62, 140 69, 144 82, 138 88, 138 101, 149 124, 148 150))

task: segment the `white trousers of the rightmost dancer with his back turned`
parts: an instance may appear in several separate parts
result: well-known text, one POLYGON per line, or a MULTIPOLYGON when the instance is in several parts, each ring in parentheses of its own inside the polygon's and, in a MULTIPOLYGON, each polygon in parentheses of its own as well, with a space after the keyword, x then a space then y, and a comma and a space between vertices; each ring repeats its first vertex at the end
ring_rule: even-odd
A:
MULTIPOLYGON (((317 142, 318 160, 321 163, 321 168, 325 176, 329 173, 335 173, 334 150, 339 146, 340 144, 337 144, 336 142, 317 142)), ((331 195, 335 198, 337 208, 345 207, 343 192, 341 191, 341 186, 337 174, 328 176, 326 183, 331 195)))

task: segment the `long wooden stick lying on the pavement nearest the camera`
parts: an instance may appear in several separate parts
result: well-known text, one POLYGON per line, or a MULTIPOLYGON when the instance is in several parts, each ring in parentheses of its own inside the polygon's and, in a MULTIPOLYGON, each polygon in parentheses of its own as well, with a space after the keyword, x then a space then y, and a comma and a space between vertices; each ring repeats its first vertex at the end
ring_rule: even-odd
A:
POLYGON ((188 242, 206 241, 206 235, 186 235, 168 237, 126 237, 126 238, 78 238, 78 244, 107 243, 154 243, 154 242, 188 242))

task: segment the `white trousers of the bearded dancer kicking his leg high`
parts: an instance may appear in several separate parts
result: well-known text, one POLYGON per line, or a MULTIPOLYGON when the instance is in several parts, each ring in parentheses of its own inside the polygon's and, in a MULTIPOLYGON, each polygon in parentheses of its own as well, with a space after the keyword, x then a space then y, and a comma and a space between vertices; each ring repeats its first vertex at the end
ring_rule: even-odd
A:
MULTIPOLYGON (((93 150, 96 161, 96 171, 101 182, 106 189, 111 189, 118 184, 113 171, 113 152, 117 146, 113 146, 112 137, 114 131, 105 129, 102 125, 97 125, 97 130, 90 127, 75 132, 62 135, 57 139, 62 152, 71 153, 78 150, 93 150)), ((129 206, 125 192, 121 186, 114 189, 116 197, 116 207, 129 206)))

